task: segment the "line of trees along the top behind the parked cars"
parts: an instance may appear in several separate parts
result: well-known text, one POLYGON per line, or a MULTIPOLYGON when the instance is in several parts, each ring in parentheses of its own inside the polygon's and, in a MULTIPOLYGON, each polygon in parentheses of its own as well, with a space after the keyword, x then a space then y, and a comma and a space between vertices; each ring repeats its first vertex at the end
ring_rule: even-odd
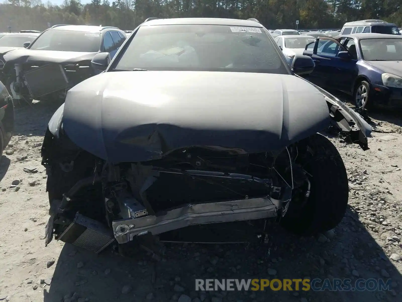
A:
POLYGON ((345 22, 382 19, 402 25, 401 0, 64 0, 60 6, 41 0, 0 4, 0 32, 45 30, 48 25, 117 26, 132 30, 148 17, 256 18, 268 29, 340 28, 345 22))

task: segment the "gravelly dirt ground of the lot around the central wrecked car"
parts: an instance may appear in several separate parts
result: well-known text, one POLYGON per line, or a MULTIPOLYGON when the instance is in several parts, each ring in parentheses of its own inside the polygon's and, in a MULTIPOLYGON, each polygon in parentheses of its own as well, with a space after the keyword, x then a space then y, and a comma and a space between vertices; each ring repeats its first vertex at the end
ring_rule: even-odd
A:
POLYGON ((96 255, 55 240, 45 248, 40 149, 58 105, 16 108, 15 136, 0 165, 0 301, 401 301, 401 113, 371 114, 368 151, 331 139, 350 180, 349 208, 333 231, 298 238, 274 225, 267 244, 166 244, 164 259, 153 262, 146 253, 96 255), (390 278, 392 290, 195 292, 196 278, 274 277, 390 278))

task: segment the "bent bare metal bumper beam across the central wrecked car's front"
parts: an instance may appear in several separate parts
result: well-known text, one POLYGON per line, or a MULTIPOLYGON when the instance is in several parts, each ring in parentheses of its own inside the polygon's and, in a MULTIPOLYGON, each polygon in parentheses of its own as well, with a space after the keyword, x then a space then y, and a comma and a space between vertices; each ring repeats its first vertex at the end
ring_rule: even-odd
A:
POLYGON ((189 225, 277 217, 280 207, 281 201, 270 197, 199 203, 172 209, 161 216, 115 220, 112 226, 117 242, 123 244, 148 232, 156 235, 189 225))

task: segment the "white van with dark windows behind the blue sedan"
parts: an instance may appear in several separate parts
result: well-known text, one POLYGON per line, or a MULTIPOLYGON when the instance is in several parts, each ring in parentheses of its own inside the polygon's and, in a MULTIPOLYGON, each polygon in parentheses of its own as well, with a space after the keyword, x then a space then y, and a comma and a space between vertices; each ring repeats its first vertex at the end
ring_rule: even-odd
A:
POLYGON ((386 33, 390 35, 400 35, 398 26, 383 20, 361 20, 347 22, 343 25, 341 35, 351 33, 386 33))

